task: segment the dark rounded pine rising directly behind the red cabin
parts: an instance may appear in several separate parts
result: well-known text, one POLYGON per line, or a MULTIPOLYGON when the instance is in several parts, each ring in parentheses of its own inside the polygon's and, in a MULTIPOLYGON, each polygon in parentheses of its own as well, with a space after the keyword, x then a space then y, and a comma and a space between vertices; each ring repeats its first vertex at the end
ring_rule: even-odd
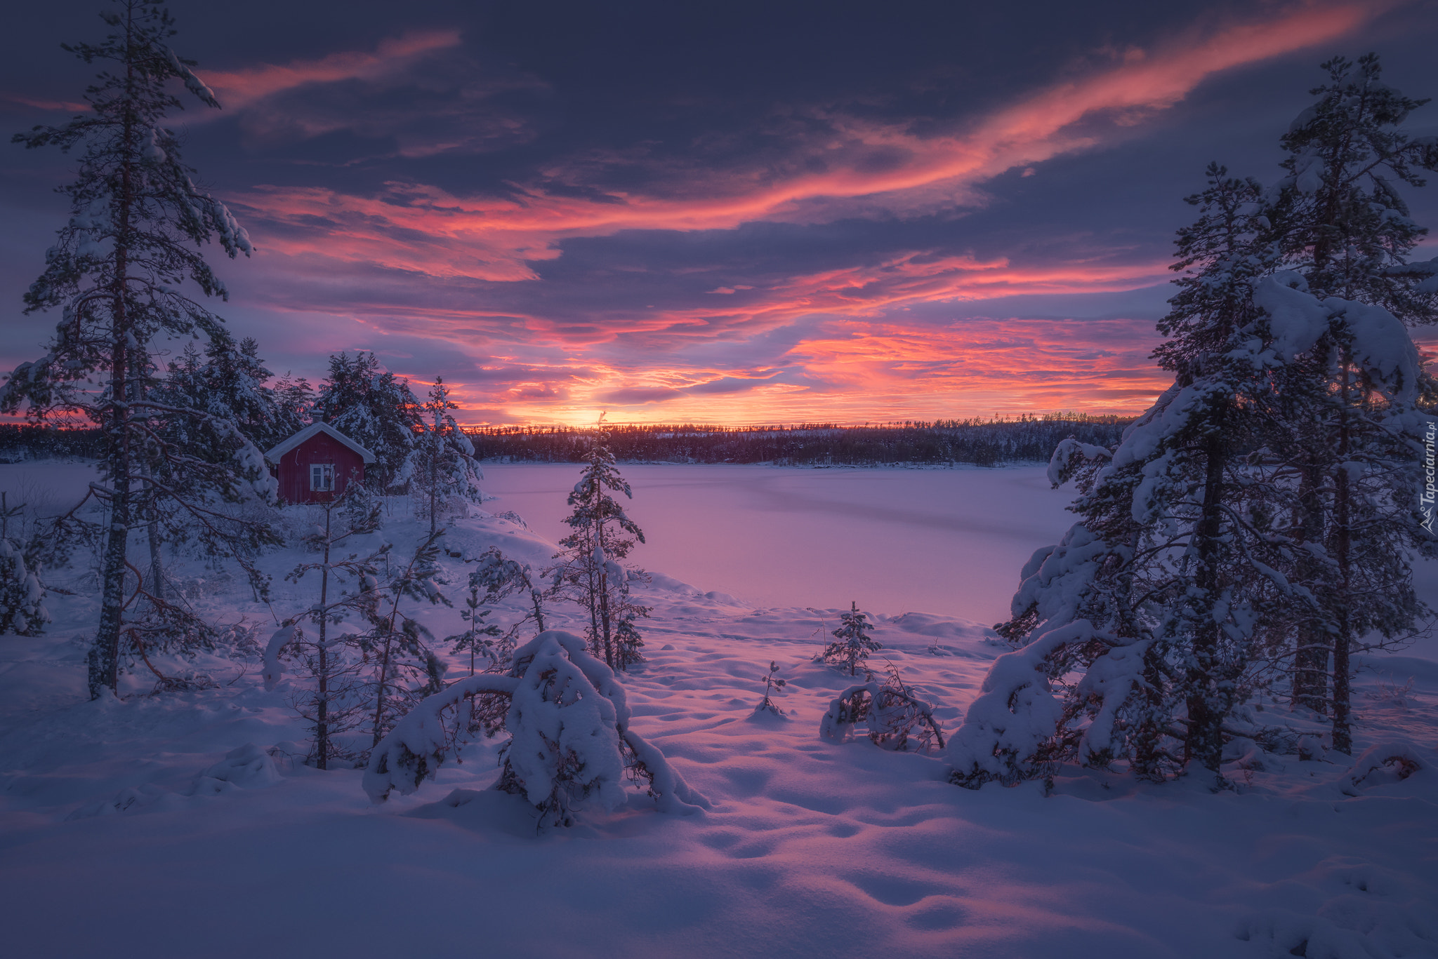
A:
POLYGON ((410 381, 380 368, 372 352, 329 357, 329 378, 315 397, 316 421, 328 423, 375 456, 365 483, 378 492, 408 489, 424 421, 410 381))

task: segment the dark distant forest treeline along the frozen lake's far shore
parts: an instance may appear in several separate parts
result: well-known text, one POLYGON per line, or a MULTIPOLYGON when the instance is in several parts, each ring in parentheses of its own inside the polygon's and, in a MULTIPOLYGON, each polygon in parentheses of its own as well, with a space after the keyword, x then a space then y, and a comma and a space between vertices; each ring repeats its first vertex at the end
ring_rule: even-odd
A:
MULTIPOLYGON (((1060 440, 1112 446, 1132 417, 1073 413, 1014 420, 938 420, 871 426, 610 426, 607 446, 623 462, 879 466, 886 463, 1047 462, 1060 440)), ((595 428, 479 427, 464 430, 485 460, 575 463, 595 428)))

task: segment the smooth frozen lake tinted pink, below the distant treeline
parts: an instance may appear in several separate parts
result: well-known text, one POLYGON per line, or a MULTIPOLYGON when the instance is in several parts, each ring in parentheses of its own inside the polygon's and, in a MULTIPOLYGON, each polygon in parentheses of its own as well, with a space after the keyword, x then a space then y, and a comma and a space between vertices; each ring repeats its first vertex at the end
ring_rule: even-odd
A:
MULTIPOLYGON (((1073 522, 1040 466, 788 469, 621 464, 647 543, 630 558, 759 607, 1008 618, 1028 556, 1073 522)), ((487 506, 565 535, 571 463, 485 464, 487 506)))

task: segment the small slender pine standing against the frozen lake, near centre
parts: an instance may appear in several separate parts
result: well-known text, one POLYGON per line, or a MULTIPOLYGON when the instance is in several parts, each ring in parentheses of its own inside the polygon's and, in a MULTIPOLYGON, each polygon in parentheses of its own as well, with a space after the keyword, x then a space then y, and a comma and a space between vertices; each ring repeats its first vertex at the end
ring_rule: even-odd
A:
POLYGON ((630 571, 618 561, 636 542, 644 542, 644 533, 610 496, 611 490, 634 496, 601 437, 585 456, 584 472, 569 493, 574 512, 564 522, 572 532, 559 541, 554 556, 558 562, 546 572, 555 577, 555 592, 578 602, 588 615, 594 656, 610 669, 623 669, 638 661, 643 641, 634 620, 649 615, 649 608, 630 601, 630 571))

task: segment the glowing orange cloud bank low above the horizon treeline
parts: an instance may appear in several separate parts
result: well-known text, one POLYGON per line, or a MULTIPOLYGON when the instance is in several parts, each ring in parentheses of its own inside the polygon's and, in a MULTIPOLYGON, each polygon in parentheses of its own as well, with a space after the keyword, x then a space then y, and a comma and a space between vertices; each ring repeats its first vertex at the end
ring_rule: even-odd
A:
POLYGON ((1136 413, 1172 381, 1149 359, 1158 342, 1152 322, 1132 319, 833 321, 762 368, 552 365, 546 382, 503 393, 460 384, 456 395, 467 407, 502 405, 506 421, 571 424, 592 423, 600 410, 617 423, 729 426, 1136 413))

